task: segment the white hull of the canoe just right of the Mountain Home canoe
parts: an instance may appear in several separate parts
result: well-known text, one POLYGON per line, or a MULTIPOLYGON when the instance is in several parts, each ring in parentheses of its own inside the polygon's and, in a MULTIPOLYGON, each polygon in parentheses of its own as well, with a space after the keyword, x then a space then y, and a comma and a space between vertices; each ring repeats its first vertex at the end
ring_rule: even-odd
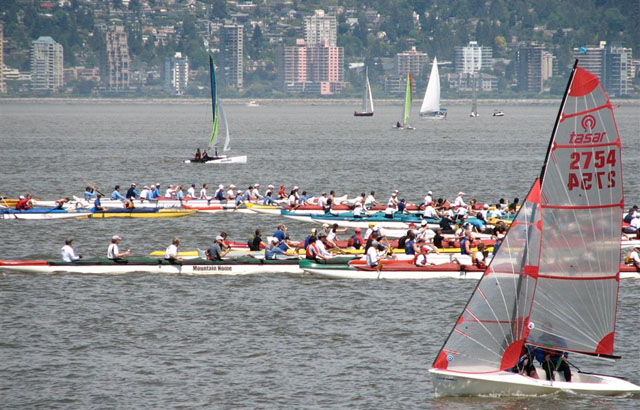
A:
POLYGON ((356 269, 303 268, 305 273, 330 279, 473 279, 482 277, 482 272, 464 271, 359 271, 356 269))

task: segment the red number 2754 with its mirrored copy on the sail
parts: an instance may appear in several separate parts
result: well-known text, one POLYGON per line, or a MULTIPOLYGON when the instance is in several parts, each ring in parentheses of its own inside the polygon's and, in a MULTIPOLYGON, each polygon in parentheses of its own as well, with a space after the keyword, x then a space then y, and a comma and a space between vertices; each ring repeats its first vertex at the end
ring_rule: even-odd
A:
POLYGON ((591 188, 614 188, 616 186, 616 171, 597 171, 605 166, 615 167, 616 165, 616 151, 583 151, 572 152, 571 162, 569 163, 569 169, 586 170, 589 167, 596 169, 595 172, 576 172, 569 171, 569 178, 567 182, 567 188, 569 191, 573 189, 582 189, 585 191, 591 188))

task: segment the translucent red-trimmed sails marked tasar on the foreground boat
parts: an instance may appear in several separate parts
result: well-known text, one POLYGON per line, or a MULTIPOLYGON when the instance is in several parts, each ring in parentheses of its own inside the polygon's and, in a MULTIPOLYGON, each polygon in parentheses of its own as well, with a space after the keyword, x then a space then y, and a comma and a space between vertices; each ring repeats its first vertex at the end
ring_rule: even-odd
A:
POLYGON ((513 367, 524 343, 611 355, 624 208, 613 108, 575 67, 536 179, 434 368, 513 367))

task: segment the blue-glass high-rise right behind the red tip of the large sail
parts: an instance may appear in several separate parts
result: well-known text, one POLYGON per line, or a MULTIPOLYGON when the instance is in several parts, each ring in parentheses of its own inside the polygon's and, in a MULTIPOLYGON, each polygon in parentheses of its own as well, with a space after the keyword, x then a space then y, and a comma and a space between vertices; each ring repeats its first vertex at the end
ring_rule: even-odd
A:
POLYGON ((618 44, 607 47, 606 41, 601 41, 597 47, 573 49, 573 57, 580 60, 580 67, 597 75, 607 94, 613 97, 631 92, 631 53, 632 49, 618 44))

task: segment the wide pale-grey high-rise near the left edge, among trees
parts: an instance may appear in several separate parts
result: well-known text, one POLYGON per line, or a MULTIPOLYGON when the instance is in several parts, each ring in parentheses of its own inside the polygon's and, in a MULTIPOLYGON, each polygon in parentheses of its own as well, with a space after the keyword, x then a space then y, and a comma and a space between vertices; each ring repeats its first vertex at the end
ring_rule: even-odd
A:
POLYGON ((51 37, 40 37, 31 46, 31 88, 56 92, 63 85, 63 50, 51 37))

